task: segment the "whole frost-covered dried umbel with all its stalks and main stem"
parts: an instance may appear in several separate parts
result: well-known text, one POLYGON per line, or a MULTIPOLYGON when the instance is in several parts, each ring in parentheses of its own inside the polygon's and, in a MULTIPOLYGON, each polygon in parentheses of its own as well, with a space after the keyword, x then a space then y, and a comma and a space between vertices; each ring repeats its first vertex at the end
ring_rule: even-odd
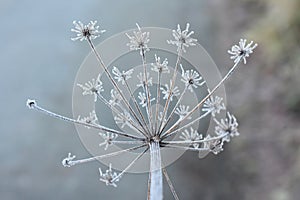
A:
POLYGON ((75 28, 72 31, 77 33, 77 37, 73 38, 73 40, 87 40, 99 62, 99 66, 103 69, 103 76, 106 76, 109 80, 109 83, 103 84, 101 81, 102 75, 99 74, 95 75, 91 80, 86 80, 86 83, 78 83, 77 85, 82 90, 82 95, 92 96, 94 102, 102 103, 111 109, 114 113, 114 122, 119 125, 121 130, 110 128, 108 127, 109 125, 100 124, 94 110, 86 117, 78 116, 77 119, 72 119, 40 107, 35 100, 27 100, 26 105, 30 109, 43 112, 52 117, 97 130, 102 141, 99 144, 99 148, 104 148, 104 150, 108 150, 107 152, 109 152, 77 160, 75 155, 69 153, 62 161, 63 166, 71 167, 81 163, 121 156, 128 152, 141 150, 133 160, 129 161, 125 169, 119 173, 113 171, 111 164, 109 164, 105 172, 99 168, 100 181, 108 186, 117 187, 117 183, 121 180, 121 177, 146 152, 149 152, 148 199, 161 200, 163 198, 163 175, 170 186, 174 198, 178 199, 167 170, 162 165, 161 151, 173 148, 196 151, 199 152, 199 156, 202 153, 219 154, 224 150, 225 143, 230 142, 231 138, 239 135, 238 123, 232 114, 227 112, 225 119, 220 117, 221 111, 225 110, 226 107, 223 103, 223 98, 217 96, 215 93, 232 75, 234 70, 237 69, 238 64, 242 60, 246 64, 246 57, 249 57, 253 53, 257 44, 252 45, 253 42, 246 44, 246 40, 241 40, 239 45, 234 45, 228 51, 232 55, 231 59, 234 60, 234 64, 228 73, 226 73, 218 84, 208 90, 208 93, 199 102, 189 104, 184 101, 185 98, 188 98, 187 94, 196 95, 196 91, 205 86, 206 83, 200 75, 200 71, 186 69, 181 63, 182 53, 185 53, 190 46, 195 46, 197 41, 191 38, 194 32, 189 32, 189 24, 186 25, 186 29, 183 31, 178 25, 177 30, 173 30, 175 40, 166 41, 168 44, 177 47, 177 61, 174 66, 168 66, 167 58, 161 61, 160 57, 156 54, 154 57, 155 63, 147 65, 146 52, 150 51, 148 46, 150 32, 143 32, 142 28, 137 25, 137 30, 133 31, 132 35, 126 34, 129 38, 129 43, 127 44, 129 49, 138 50, 141 56, 143 72, 140 73, 135 72, 134 69, 123 70, 122 66, 113 67, 112 70, 108 68, 92 41, 104 32, 100 31, 99 27, 96 26, 96 21, 91 21, 87 25, 81 22, 74 22, 74 25, 75 28), (154 77, 148 72, 149 66, 152 67, 153 73, 157 75, 156 84, 153 84, 154 77), (178 78, 177 74, 180 73, 179 67, 181 68, 181 77, 179 77, 181 81, 176 81, 176 78, 178 78), (171 68, 173 70, 170 70, 171 68), (168 78, 170 80, 167 83, 162 82, 165 76, 171 71, 171 78, 168 78), (133 80, 137 80, 134 85, 139 89, 135 93, 130 84, 128 84, 128 81, 133 80), (109 86, 110 98, 107 98, 102 92, 109 86), (213 119, 212 122, 215 125, 215 130, 200 134, 197 123, 207 117, 213 119), (175 139, 172 140, 173 136, 176 135, 179 137, 174 137, 175 139), (130 147, 113 152, 109 151, 116 144, 129 145, 130 147))

